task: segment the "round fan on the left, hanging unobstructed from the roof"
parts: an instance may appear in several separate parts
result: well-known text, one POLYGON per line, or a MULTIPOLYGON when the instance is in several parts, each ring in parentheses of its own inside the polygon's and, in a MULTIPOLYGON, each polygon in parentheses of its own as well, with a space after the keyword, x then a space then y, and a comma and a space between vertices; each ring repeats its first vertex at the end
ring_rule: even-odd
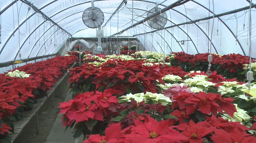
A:
POLYGON ((87 8, 82 16, 84 24, 89 28, 98 28, 104 22, 104 14, 101 9, 94 7, 87 8))

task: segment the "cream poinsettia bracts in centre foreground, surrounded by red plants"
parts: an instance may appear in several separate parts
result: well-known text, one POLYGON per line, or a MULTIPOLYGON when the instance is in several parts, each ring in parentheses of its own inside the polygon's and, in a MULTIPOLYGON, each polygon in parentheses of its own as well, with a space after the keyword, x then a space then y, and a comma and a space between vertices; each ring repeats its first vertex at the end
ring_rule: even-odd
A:
POLYGON ((145 103, 148 103, 149 100, 152 100, 155 104, 161 103, 162 105, 167 105, 168 103, 171 103, 171 99, 169 97, 164 96, 163 94, 158 93, 151 93, 146 92, 144 93, 136 93, 136 94, 127 94, 125 96, 119 97, 121 100, 131 102, 131 99, 134 99, 136 102, 142 102, 145 101, 145 103))

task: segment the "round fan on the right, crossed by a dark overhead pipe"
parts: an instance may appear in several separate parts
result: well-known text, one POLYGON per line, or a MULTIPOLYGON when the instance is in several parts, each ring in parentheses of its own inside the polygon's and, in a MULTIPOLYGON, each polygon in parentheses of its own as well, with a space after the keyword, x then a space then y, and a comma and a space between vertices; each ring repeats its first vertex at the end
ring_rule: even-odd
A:
MULTIPOLYGON (((151 16, 160 10, 161 8, 157 8, 157 11, 155 11, 155 8, 152 8, 151 10, 148 11, 147 16, 151 16)), ((161 29, 167 23, 167 14, 165 12, 160 13, 159 15, 154 16, 151 19, 147 20, 147 22, 148 22, 148 25, 153 29, 161 29)))

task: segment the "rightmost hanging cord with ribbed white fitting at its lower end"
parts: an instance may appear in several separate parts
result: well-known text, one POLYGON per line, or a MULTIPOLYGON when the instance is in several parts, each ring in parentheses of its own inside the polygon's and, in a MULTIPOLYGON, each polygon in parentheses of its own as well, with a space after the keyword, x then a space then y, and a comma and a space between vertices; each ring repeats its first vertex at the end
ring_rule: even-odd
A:
POLYGON ((250 43, 250 45, 249 45, 249 47, 250 47, 250 49, 249 49, 249 52, 250 52, 250 54, 249 54, 249 58, 250 58, 250 62, 249 62, 249 71, 247 72, 247 83, 245 84, 245 86, 246 87, 248 87, 248 90, 250 90, 251 89, 251 81, 253 80, 253 72, 251 71, 251 65, 252 65, 252 37, 251 37, 251 28, 252 28, 252 19, 251 19, 251 17, 252 17, 252 15, 251 15, 251 10, 252 10, 252 0, 250 0, 250 10, 249 10, 249 43, 250 43))

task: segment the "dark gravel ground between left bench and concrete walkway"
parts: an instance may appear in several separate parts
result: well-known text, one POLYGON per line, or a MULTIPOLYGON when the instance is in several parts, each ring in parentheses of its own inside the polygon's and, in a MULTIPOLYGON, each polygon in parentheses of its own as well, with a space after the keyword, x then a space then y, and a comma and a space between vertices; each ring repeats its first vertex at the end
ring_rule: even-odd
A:
POLYGON ((52 108, 52 97, 48 98, 43 106, 38 110, 39 135, 37 135, 36 118, 32 117, 24 127, 14 143, 44 143, 52 129, 60 109, 59 103, 64 102, 69 91, 69 84, 65 79, 62 81, 62 95, 60 94, 60 84, 54 90, 54 108, 52 108))

